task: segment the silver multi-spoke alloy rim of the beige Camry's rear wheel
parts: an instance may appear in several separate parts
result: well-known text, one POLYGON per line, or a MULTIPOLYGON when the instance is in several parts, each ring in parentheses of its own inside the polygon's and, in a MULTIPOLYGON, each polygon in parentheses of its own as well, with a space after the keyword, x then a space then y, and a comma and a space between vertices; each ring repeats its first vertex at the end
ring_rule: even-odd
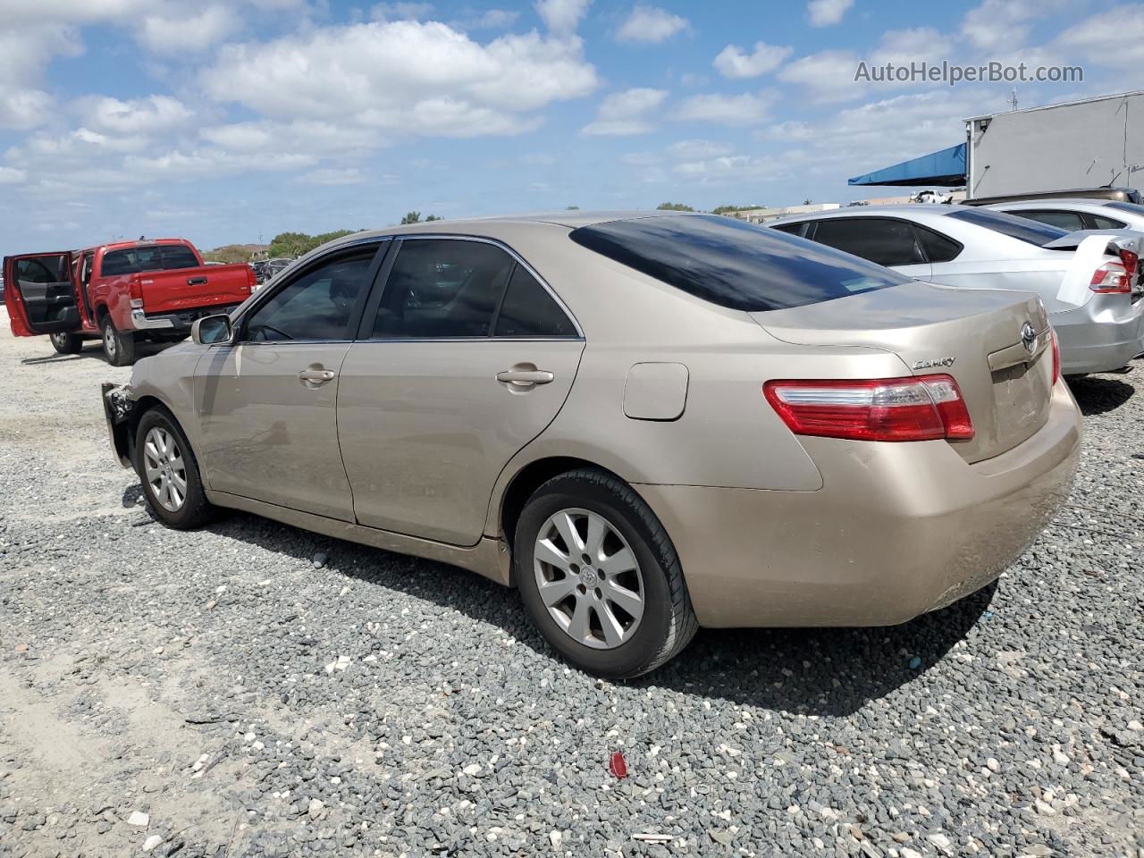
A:
POLYGON ((533 566, 541 602, 577 643, 612 650, 635 634, 644 613, 639 562, 598 513, 549 516, 537 534, 533 566))

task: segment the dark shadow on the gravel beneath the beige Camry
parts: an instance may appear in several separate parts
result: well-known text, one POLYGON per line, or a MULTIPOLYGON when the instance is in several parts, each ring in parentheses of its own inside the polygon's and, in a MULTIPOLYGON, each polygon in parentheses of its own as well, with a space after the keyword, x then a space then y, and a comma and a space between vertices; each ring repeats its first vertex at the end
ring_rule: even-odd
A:
MULTIPOLYGON (((133 490, 132 502, 137 495, 133 490)), ((128 496, 125 494, 125 505, 128 496)), ((313 534, 245 513, 208 526, 310 564, 317 553, 341 574, 400 590, 487 622, 551 660, 559 656, 535 631, 519 596, 464 570, 313 534)), ((900 626, 819 629, 700 629, 664 667, 628 683, 808 715, 849 715, 907 684, 942 660, 974 626, 991 615, 996 585, 900 626)))

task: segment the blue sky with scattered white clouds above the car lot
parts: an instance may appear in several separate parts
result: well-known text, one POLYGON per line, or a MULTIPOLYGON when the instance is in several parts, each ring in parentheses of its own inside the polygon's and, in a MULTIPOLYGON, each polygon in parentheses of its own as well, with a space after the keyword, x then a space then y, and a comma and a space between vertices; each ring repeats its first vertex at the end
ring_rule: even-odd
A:
POLYGON ((1144 88, 1144 3, 0 0, 0 252, 888 194, 847 178, 1009 109, 855 80, 921 61, 1083 69, 1022 108, 1144 88))

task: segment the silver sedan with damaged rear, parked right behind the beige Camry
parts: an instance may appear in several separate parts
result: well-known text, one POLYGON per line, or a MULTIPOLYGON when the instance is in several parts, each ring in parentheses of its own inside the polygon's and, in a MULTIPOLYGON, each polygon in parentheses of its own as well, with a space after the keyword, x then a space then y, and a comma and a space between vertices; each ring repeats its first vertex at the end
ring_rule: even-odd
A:
POLYGON ((1144 351, 1144 233, 1068 232, 967 206, 869 206, 766 225, 920 280, 1035 292, 1066 375, 1113 372, 1144 351))

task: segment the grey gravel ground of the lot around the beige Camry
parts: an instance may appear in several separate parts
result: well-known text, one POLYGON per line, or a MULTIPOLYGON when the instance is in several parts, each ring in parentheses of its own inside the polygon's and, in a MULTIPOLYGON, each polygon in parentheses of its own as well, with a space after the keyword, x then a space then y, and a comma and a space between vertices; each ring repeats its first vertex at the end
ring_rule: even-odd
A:
POLYGON ((459 570, 154 524, 129 371, 3 328, 0 856, 1144 856, 1142 368, 1075 386, 1077 490, 999 587, 617 684, 459 570))

